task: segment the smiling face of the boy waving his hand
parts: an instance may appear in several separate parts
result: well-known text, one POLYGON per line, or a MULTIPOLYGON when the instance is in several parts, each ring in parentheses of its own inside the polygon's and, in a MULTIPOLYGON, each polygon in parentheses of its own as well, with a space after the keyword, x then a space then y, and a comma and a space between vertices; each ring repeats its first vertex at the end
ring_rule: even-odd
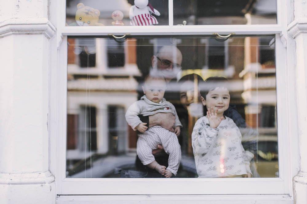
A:
POLYGON ((229 90, 226 87, 217 87, 209 91, 206 95, 206 99, 202 97, 202 102, 203 105, 207 106, 207 109, 213 108, 214 111, 218 110, 218 114, 223 114, 229 107, 229 90))

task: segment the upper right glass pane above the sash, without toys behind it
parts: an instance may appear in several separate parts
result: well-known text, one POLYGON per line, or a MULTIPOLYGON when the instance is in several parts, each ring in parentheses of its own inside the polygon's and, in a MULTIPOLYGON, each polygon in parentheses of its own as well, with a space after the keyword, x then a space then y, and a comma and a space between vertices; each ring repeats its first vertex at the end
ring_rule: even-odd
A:
POLYGON ((174 25, 277 24, 276 0, 176 0, 174 25))

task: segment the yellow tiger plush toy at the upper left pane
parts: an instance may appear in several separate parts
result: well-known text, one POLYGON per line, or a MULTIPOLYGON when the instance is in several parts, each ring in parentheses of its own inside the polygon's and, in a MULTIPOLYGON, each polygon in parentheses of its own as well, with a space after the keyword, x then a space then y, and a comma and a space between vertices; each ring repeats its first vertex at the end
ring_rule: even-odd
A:
POLYGON ((76 12, 76 22, 79 26, 102 26, 102 23, 98 23, 100 11, 93 9, 89 6, 85 6, 83 3, 78 3, 76 12))

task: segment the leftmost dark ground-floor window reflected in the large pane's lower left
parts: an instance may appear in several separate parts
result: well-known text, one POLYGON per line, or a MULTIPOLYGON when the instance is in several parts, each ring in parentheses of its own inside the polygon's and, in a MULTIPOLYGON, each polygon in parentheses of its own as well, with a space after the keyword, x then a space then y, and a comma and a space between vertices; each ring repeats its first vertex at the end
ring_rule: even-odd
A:
POLYGON ((79 141, 78 149, 80 151, 97 150, 97 129, 96 129, 96 108, 80 108, 79 117, 79 141))

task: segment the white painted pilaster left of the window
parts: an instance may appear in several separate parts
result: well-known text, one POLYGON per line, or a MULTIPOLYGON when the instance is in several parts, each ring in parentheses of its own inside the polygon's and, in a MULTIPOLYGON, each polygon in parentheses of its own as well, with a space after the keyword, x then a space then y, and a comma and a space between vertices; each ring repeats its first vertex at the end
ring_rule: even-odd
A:
POLYGON ((0 203, 55 203, 48 1, 2 1, 0 10, 0 203))

